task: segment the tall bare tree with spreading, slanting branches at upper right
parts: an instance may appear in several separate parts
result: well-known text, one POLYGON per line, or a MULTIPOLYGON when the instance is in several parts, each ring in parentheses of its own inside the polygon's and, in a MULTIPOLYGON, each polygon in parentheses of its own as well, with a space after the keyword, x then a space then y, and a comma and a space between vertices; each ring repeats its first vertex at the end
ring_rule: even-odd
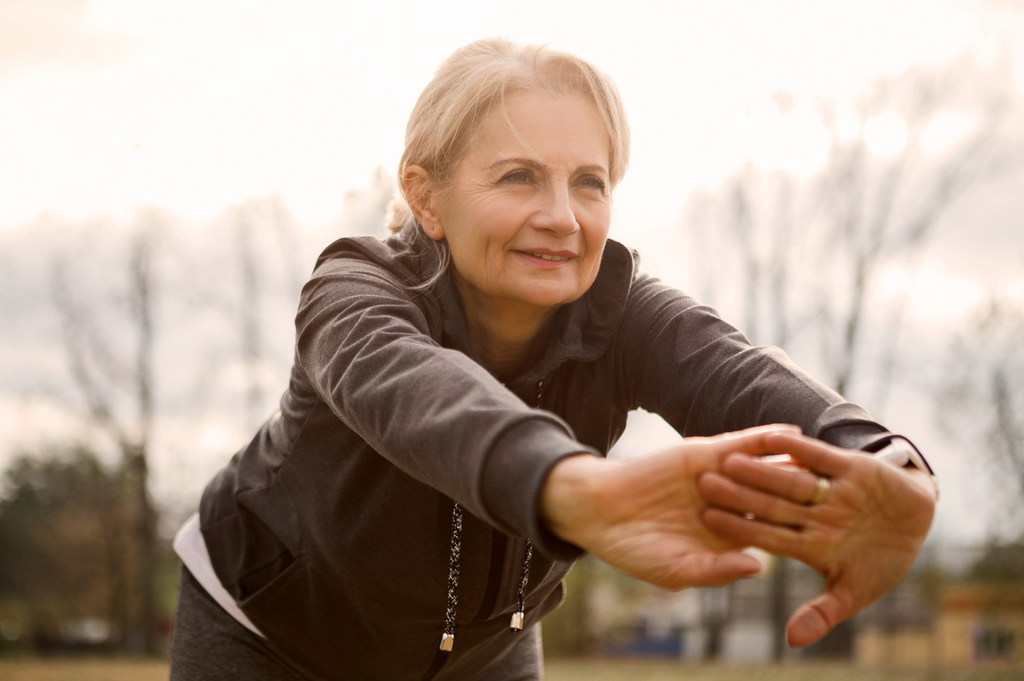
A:
MULTIPOLYGON (((872 285, 881 266, 902 258, 915 262, 948 209, 1004 159, 994 157, 1011 90, 999 75, 980 72, 970 60, 929 72, 912 70, 882 81, 859 107, 856 134, 841 140, 838 117, 824 109, 833 137, 829 160, 816 184, 823 233, 833 247, 826 262, 845 260, 836 290, 849 291, 840 308, 820 301, 830 329, 824 335, 833 386, 845 393, 859 364, 872 285), (947 150, 927 148, 926 136, 943 115, 970 115, 974 126, 947 150), (901 120, 905 142, 879 159, 870 152, 868 126, 883 116, 901 120)), ((831 295, 829 291, 826 295, 831 295)), ((892 310, 879 369, 885 400, 895 363, 897 330, 906 299, 892 310)), ((880 405, 881 406, 881 405, 880 405)))

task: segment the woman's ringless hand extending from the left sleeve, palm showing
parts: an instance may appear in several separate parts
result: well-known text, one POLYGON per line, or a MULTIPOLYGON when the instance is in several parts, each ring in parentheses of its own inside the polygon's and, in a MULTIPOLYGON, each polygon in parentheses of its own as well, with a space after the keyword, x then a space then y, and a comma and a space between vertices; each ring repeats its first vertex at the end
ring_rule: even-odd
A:
POLYGON ((720 586, 761 571, 745 544, 723 540, 700 522, 700 473, 730 455, 769 451, 772 434, 796 426, 763 426, 682 444, 628 462, 569 457, 551 471, 540 512, 558 537, 616 569, 665 589, 720 586))

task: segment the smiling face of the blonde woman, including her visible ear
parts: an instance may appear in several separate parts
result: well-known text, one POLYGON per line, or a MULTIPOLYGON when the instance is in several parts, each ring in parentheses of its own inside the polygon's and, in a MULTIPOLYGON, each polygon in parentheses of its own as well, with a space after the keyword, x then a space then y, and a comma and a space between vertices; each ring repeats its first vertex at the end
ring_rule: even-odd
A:
POLYGON ((585 97, 514 92, 506 112, 483 121, 424 228, 447 239, 467 311, 546 314, 597 276, 611 219, 610 140, 585 97))

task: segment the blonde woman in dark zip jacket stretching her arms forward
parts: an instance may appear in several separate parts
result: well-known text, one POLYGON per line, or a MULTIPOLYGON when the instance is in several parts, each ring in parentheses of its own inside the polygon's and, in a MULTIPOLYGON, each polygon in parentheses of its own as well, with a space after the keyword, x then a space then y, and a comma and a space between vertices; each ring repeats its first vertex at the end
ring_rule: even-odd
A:
POLYGON ((281 411, 178 538, 172 678, 537 679, 582 551, 673 589, 757 573, 744 546, 804 560, 828 584, 795 645, 902 579, 927 473, 851 456, 898 436, 637 272, 607 240, 628 157, 579 57, 484 40, 441 65, 396 233, 321 256, 281 411), (641 407, 706 437, 607 461, 641 407))

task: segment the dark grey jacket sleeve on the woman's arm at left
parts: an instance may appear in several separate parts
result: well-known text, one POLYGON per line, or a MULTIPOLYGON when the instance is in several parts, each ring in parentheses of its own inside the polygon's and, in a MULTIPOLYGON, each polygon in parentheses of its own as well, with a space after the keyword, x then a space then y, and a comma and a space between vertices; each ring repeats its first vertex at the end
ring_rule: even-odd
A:
POLYGON ((590 450, 564 421, 432 338, 416 302, 423 295, 365 260, 323 263, 296 316, 302 371, 333 413, 403 472, 503 531, 550 543, 536 511, 541 486, 555 463, 590 450), (485 498, 494 485, 484 480, 495 477, 518 488, 485 498))

